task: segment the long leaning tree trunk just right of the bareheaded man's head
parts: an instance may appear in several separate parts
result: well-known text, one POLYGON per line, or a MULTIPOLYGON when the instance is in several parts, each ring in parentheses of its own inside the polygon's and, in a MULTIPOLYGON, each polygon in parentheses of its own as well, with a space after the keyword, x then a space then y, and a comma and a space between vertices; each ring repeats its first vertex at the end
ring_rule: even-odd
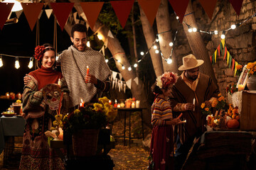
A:
MULTIPOLYGON (((82 7, 80 6, 80 3, 78 0, 70 0, 70 2, 74 2, 74 6, 76 10, 78 11, 79 14, 81 14, 82 7)), ((85 18, 83 18, 85 20, 85 18)), ((70 26, 70 25, 67 25, 70 26)), ((99 21, 96 21, 95 26, 93 28, 94 32, 97 31, 97 33, 100 33, 103 37, 103 41, 105 42, 107 40, 107 47, 112 53, 112 56, 116 59, 115 64, 117 66, 117 69, 119 72, 122 74, 122 77, 124 78, 124 81, 128 81, 129 79, 132 79, 132 96, 137 98, 137 100, 141 101, 140 106, 142 108, 146 108, 144 110, 143 118, 144 118, 144 123, 148 126, 151 125, 151 112, 150 112, 150 106, 149 103, 147 102, 146 94, 143 88, 143 82, 139 79, 139 84, 137 85, 134 79, 137 77, 136 74, 134 74, 134 71, 128 71, 128 67, 130 67, 129 60, 127 60, 127 57, 125 55, 124 49, 120 45, 119 40, 114 36, 114 38, 108 37, 109 29, 102 25, 99 21), (120 60, 121 63, 124 65, 126 69, 122 69, 122 64, 117 62, 117 60, 120 60)))

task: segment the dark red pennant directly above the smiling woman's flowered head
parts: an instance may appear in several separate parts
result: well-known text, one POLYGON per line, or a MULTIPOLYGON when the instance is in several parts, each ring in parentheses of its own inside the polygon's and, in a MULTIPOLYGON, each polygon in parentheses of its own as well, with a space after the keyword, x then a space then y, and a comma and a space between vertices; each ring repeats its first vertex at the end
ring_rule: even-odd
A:
POLYGON ((21 3, 23 13, 25 14, 28 24, 33 30, 39 14, 43 8, 43 3, 21 3))

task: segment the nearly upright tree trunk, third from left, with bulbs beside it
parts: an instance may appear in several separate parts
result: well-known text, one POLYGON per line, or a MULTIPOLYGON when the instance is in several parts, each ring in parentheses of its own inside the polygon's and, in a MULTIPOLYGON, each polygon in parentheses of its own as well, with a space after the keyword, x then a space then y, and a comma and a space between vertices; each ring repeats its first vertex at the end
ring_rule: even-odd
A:
MULTIPOLYGON (((168 0, 161 0, 159 10, 156 13, 156 26, 159 34, 159 45, 164 59, 169 59, 171 55, 172 47, 169 46, 169 42, 174 42, 171 35, 171 22, 169 15, 168 0), (167 32, 166 32, 167 31, 167 32), (164 33, 165 32, 165 33, 164 33)), ((162 60, 164 66, 164 72, 175 72, 178 73, 177 59, 174 52, 171 55, 171 64, 167 64, 166 61, 162 60)))

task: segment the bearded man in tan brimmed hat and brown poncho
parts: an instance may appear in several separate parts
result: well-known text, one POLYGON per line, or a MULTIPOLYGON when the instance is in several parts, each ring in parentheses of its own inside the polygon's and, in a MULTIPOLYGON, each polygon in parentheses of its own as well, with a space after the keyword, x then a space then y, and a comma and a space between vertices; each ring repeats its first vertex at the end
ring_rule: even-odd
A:
POLYGON ((194 55, 187 55, 182 60, 183 64, 178 70, 183 73, 174 84, 170 96, 172 108, 182 112, 183 119, 186 120, 186 123, 177 128, 176 169, 181 169, 194 138, 201 136, 205 130, 206 115, 203 116, 200 111, 201 103, 210 107, 219 94, 218 86, 212 79, 199 72, 203 60, 196 60, 194 55))

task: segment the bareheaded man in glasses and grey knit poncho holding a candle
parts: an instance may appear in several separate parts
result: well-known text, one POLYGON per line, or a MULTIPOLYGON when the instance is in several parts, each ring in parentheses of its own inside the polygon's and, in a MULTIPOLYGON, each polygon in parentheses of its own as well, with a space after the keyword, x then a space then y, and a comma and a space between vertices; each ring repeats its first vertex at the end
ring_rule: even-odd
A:
POLYGON ((110 89, 110 68, 100 52, 86 46, 86 35, 86 26, 75 24, 70 37, 73 45, 60 55, 61 70, 70 91, 70 108, 78 106, 80 98, 85 103, 94 102, 102 91, 110 89))

